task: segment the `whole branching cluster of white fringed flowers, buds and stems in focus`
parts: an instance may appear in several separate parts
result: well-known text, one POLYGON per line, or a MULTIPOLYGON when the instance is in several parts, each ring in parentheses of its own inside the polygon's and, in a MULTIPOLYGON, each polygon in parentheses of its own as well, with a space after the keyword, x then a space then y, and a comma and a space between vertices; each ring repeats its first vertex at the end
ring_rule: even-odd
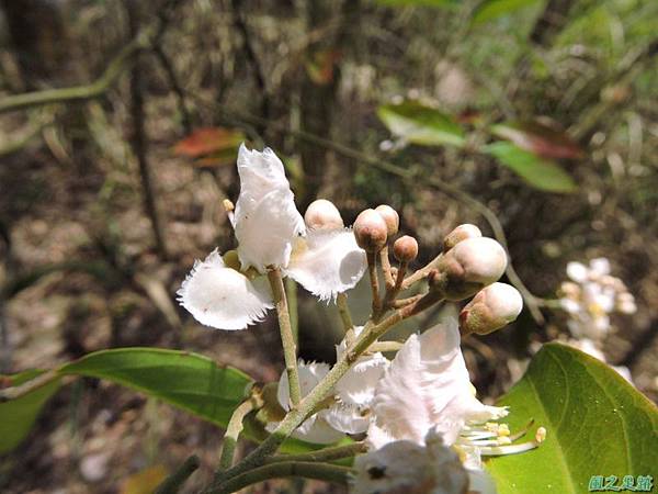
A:
POLYGON ((276 308, 285 371, 279 383, 254 391, 236 409, 206 492, 235 492, 290 475, 349 482, 354 493, 495 492, 480 458, 535 448, 546 434, 540 427, 531 440, 517 442, 527 429, 512 434, 495 422, 508 409, 477 400, 460 347, 461 337, 500 329, 522 310, 519 292, 498 282, 508 263, 500 244, 474 225, 461 225, 445 237, 436 258, 409 273, 418 243, 395 238, 399 217, 393 207, 365 210, 345 228, 338 209, 324 199, 299 214, 271 149, 242 146, 238 172, 238 201, 226 204, 238 247, 197 261, 179 300, 200 323, 228 330, 245 329, 276 308), (366 271, 371 316, 355 326, 345 293, 366 271), (333 366, 297 360, 285 277, 337 303, 345 335, 333 366), (410 288, 417 294, 405 295, 410 288), (470 297, 458 321, 443 321, 404 344, 379 341, 404 319, 470 297), (382 351, 397 355, 389 360, 382 351), (250 413, 270 435, 234 464, 235 444, 250 413), (275 454, 288 437, 328 446, 275 454), (336 446, 348 438, 360 441, 336 446), (331 463, 353 457, 353 469, 331 463))

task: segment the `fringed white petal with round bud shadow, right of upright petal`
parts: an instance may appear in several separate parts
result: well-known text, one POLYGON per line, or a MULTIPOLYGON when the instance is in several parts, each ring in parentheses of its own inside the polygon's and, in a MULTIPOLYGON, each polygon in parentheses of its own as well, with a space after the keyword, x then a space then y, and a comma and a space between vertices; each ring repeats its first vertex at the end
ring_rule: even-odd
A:
POLYGON ((286 274, 322 301, 354 288, 367 267, 350 228, 311 229, 295 244, 286 274))

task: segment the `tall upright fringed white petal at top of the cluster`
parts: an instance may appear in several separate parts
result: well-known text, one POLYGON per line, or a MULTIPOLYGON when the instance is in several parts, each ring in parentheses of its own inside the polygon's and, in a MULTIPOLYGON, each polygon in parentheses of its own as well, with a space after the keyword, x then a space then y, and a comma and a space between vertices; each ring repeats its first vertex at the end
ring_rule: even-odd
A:
POLYGON ((240 195, 234 213, 238 255, 242 268, 264 272, 268 266, 285 268, 293 243, 305 233, 304 218, 285 178, 283 164, 272 149, 262 153, 240 146, 240 195))

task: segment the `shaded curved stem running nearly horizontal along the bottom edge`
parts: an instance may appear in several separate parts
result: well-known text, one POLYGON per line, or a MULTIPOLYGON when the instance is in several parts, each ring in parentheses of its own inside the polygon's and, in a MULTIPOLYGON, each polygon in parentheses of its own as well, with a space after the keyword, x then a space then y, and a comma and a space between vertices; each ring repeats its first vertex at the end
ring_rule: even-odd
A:
POLYGON ((347 484, 352 469, 329 463, 281 461, 265 464, 241 473, 226 481, 222 486, 211 489, 208 494, 229 494, 257 482, 284 476, 300 476, 339 484, 347 484))

